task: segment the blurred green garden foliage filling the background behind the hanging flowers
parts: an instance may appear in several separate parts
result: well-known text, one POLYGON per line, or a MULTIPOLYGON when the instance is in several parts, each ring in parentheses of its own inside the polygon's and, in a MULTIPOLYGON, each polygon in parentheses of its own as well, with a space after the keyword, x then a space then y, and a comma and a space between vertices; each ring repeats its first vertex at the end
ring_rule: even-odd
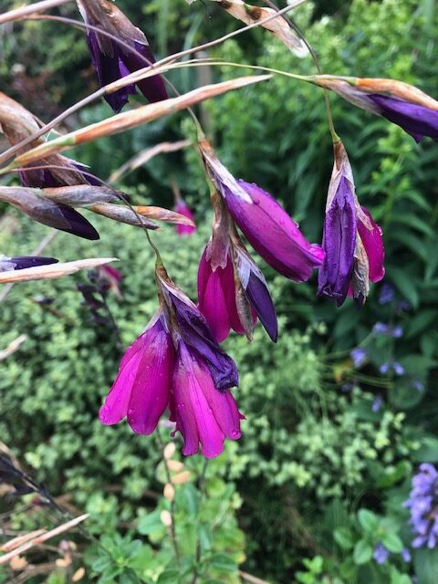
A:
MULTIPOLYGON (((124 0, 122 7, 162 55, 236 26, 214 3, 189 8, 185 0, 124 0)), ((431 0, 321 1, 304 5, 296 16, 324 72, 401 78, 436 98, 434 8, 431 0)), ((77 16, 68 5, 61 11, 77 16)), ((63 26, 60 34, 51 22, 13 28, 1 35, 0 78, 26 108, 48 120, 95 88, 80 31, 63 26)), ((297 60, 258 30, 210 56, 313 71, 308 58, 297 60)), ((212 66, 171 77, 185 90, 242 71, 212 66)), ((174 487, 181 570, 175 568, 168 516, 162 515, 170 511, 170 499, 162 496, 168 481, 161 447, 123 423, 107 428, 97 419, 120 351, 110 327, 90 322, 77 290, 78 284, 89 285, 87 277, 20 285, 2 302, 2 348, 27 336, 1 363, 2 441, 50 493, 90 513, 87 528, 98 538, 90 543, 80 534, 72 537, 78 547, 72 568, 56 567, 30 582, 69 581, 79 568, 84 582, 190 582, 198 559, 198 581, 210 584, 245 581, 239 570, 287 584, 408 584, 414 575, 420 584, 436 584, 438 549, 412 548, 409 510, 402 504, 418 465, 438 463, 438 146, 417 145, 399 128, 340 99, 331 103, 360 201, 383 228, 387 276, 357 311, 350 302, 337 309, 317 299, 315 281, 297 286, 262 266, 279 315, 279 341, 269 343, 259 327, 251 345, 238 337, 226 341, 241 373, 243 438, 227 445, 201 482, 201 461, 180 463, 174 456, 184 464, 179 472, 190 473, 174 487)), ((99 103, 67 127, 108 115, 99 103)), ((200 115, 230 171, 273 193, 308 238, 318 241, 332 164, 322 94, 276 77, 215 99, 200 115)), ((179 114, 89 144, 73 157, 105 178, 141 150, 192 136, 191 121, 179 114)), ((130 193, 132 203, 171 207, 172 178, 200 228, 183 245, 169 226, 153 236, 172 277, 194 299, 196 266, 211 222, 197 154, 189 148, 156 157, 116 186, 130 193)), ((28 253, 47 234, 13 211, 0 220, 6 255, 28 253)), ((99 243, 59 234, 47 255, 65 261, 120 257, 121 298, 109 293, 106 299, 127 346, 155 308, 150 249, 133 227, 93 223, 99 243)), ((169 442, 169 433, 162 428, 162 441, 169 442)), ((47 524, 44 506, 29 512, 19 501, 0 503, 8 528, 47 524)), ((46 550, 31 560, 44 562, 47 555, 57 558, 46 550)), ((23 569, 8 568, 4 581, 23 569)))

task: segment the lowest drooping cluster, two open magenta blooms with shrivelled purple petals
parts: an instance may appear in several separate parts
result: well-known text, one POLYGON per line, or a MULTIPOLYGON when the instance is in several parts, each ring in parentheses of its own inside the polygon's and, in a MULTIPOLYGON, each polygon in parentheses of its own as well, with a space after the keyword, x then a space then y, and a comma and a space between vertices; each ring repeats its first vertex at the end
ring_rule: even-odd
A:
POLYGON ((242 416, 230 391, 238 382, 235 363, 162 266, 156 280, 161 306, 120 361, 99 418, 113 424, 126 416, 135 433, 150 434, 169 408, 183 434, 183 454, 196 454, 201 443, 212 458, 224 438, 240 437, 242 416))

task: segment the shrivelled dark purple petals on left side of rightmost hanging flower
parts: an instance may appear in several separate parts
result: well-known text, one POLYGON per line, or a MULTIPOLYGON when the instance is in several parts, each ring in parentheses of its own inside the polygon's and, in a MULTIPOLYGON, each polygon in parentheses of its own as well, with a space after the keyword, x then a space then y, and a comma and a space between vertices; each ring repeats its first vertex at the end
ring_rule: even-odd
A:
POLYGON ((338 190, 326 210, 322 247, 325 258, 318 274, 318 295, 335 299, 341 306, 349 291, 357 218, 354 195, 345 176, 341 176, 338 190))

